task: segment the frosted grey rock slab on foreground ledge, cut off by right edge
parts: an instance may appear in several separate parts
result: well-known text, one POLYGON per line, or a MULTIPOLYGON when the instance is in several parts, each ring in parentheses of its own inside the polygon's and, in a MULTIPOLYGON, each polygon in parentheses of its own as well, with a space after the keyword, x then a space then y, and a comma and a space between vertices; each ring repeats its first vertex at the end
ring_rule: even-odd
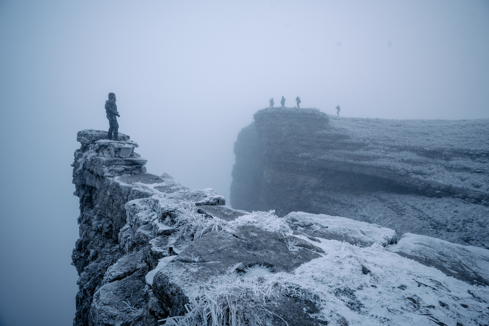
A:
POLYGON ((433 266, 469 284, 489 285, 489 250, 463 246, 425 235, 404 233, 388 247, 392 253, 433 266))

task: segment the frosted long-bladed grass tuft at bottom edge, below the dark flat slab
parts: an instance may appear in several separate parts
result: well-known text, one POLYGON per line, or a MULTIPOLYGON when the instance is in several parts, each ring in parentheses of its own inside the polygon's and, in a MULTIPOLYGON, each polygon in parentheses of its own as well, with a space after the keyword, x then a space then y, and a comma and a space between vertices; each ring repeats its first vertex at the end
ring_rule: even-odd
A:
MULTIPOLYGON (((166 321, 174 326, 255 326, 264 325, 259 317, 264 311, 275 315, 267 310, 276 297, 273 283, 257 282, 254 278, 218 286, 206 285, 209 288, 204 294, 185 305, 187 313, 184 316, 159 322, 166 321)), ((288 325, 285 320, 284 323, 288 325)))

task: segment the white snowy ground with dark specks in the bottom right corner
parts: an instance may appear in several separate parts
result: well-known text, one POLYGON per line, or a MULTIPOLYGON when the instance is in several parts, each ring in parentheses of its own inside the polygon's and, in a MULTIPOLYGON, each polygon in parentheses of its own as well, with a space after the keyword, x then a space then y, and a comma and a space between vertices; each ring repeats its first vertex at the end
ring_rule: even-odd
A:
POLYGON ((321 258, 303 264, 293 274, 276 274, 270 279, 297 284, 318 295, 328 325, 489 323, 487 287, 448 277, 380 245, 360 248, 320 240, 315 245, 326 252, 321 258), (370 272, 364 274, 362 266, 370 272), (341 323, 341 316, 348 324, 341 323))

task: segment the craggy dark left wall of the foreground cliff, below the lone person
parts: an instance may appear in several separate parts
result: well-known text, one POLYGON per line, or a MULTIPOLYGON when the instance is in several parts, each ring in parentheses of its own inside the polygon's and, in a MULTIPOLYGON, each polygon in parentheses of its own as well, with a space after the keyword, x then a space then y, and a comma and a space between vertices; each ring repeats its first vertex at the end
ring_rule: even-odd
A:
POLYGON ((73 249, 72 264, 80 278, 73 325, 108 325, 106 322, 111 319, 117 322, 110 325, 130 325, 143 319, 153 320, 151 323, 155 324, 156 317, 150 315, 153 319, 148 319, 141 311, 139 315, 131 315, 131 309, 125 309, 127 305, 122 303, 126 301, 136 310, 147 306, 147 294, 140 293, 136 299, 130 299, 134 289, 140 289, 132 283, 144 279, 153 267, 152 262, 174 254, 168 247, 158 247, 158 244, 166 245, 164 241, 149 246, 149 241, 171 233, 171 228, 159 223, 147 198, 157 196, 153 201, 156 208, 162 201, 160 197, 168 193, 173 202, 166 200, 167 206, 159 212, 171 214, 172 207, 184 199, 200 202, 210 197, 211 202, 222 204, 223 197, 212 189, 190 190, 171 177, 146 173, 146 160, 133 151, 138 145, 129 136, 119 134, 121 141, 106 140, 106 137, 106 131, 93 129, 77 135, 81 147, 75 151, 72 166, 74 195, 80 197, 80 238, 73 249), (128 153, 121 155, 123 149, 128 153), (122 260, 118 262, 119 259, 122 260), (127 281, 128 278, 134 280, 127 281))

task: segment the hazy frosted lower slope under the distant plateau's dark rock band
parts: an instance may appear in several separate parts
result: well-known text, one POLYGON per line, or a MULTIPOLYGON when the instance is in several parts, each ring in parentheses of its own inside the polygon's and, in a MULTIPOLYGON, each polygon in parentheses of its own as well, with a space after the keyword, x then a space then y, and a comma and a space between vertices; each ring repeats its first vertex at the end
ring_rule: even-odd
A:
POLYGON ((324 192, 328 213, 394 229, 489 249, 489 208, 452 198, 384 191, 324 192))

